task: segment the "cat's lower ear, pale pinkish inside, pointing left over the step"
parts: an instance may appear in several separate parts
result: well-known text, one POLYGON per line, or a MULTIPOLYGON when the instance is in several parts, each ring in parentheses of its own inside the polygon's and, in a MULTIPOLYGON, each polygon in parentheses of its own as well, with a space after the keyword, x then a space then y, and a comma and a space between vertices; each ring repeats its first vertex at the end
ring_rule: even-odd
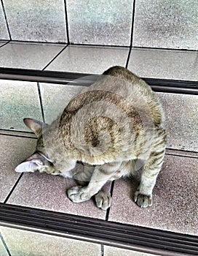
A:
POLYGON ((31 157, 25 159, 20 165, 15 167, 17 173, 34 173, 36 170, 40 170, 44 165, 44 157, 39 154, 33 154, 31 157))

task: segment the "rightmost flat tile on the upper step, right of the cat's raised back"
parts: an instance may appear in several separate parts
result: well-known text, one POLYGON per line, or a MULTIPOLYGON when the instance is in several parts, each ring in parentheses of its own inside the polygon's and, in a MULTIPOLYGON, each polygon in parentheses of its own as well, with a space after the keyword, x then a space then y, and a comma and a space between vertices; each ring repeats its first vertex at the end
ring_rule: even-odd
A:
POLYGON ((141 78, 198 80, 198 52, 132 48, 128 69, 141 78))

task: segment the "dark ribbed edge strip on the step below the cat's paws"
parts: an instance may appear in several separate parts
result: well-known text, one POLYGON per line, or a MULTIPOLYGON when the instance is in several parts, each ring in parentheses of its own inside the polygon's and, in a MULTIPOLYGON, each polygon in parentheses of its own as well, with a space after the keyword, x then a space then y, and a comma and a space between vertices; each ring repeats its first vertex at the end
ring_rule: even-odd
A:
POLYGON ((60 236, 114 245, 160 255, 197 255, 196 236, 135 227, 71 214, 0 204, 1 225, 26 226, 32 230, 48 230, 60 236))

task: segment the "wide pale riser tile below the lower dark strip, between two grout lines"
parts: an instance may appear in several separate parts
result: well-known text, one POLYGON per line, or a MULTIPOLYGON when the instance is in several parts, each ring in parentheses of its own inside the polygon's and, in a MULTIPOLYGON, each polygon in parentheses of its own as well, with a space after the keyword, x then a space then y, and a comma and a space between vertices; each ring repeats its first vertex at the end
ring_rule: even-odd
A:
POLYGON ((13 256, 100 256, 100 244, 0 227, 13 256))

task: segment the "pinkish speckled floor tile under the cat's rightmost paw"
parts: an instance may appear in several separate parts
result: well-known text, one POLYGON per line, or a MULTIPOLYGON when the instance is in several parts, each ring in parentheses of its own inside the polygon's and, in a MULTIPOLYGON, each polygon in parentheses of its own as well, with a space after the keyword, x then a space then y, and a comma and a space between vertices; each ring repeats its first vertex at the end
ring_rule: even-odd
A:
POLYGON ((108 220, 197 236, 197 165, 198 159, 166 156, 148 208, 133 202, 137 182, 116 181, 108 220))

